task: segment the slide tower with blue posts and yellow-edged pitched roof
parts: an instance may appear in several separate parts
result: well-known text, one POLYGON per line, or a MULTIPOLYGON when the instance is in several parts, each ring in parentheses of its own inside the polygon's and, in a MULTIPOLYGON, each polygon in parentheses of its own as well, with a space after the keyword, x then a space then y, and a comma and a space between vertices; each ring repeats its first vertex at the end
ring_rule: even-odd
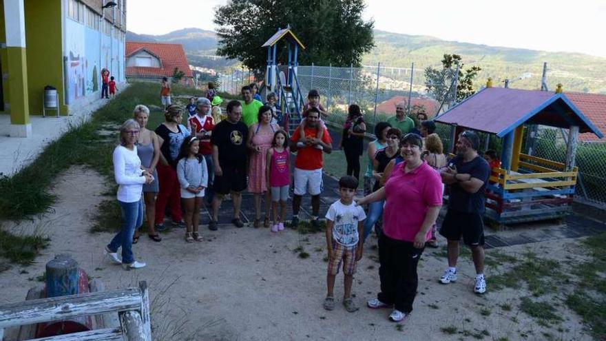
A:
POLYGON ((267 70, 265 72, 267 91, 274 92, 278 96, 278 105, 284 114, 284 129, 292 133, 301 121, 304 105, 304 97, 297 79, 297 56, 299 48, 305 49, 305 46, 295 36, 289 25, 284 29, 278 29, 278 32, 275 32, 261 47, 267 48, 267 70), (278 42, 282 39, 286 42, 289 55, 286 74, 278 72, 278 42))

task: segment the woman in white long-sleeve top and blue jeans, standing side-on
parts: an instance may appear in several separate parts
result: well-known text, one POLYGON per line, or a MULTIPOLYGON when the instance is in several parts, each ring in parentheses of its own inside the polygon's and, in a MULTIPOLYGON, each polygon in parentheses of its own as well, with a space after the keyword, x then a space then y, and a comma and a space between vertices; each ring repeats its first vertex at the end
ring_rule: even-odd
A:
POLYGON ((126 270, 145 267, 144 262, 134 259, 132 238, 135 229, 143 223, 143 184, 151 183, 154 177, 141 169, 141 160, 135 145, 140 131, 139 124, 127 120, 120 128, 120 145, 114 149, 114 176, 118 183, 118 204, 122 211, 122 229, 105 247, 105 253, 112 262, 122 264, 126 270), (118 258, 118 248, 122 247, 122 260, 118 258))

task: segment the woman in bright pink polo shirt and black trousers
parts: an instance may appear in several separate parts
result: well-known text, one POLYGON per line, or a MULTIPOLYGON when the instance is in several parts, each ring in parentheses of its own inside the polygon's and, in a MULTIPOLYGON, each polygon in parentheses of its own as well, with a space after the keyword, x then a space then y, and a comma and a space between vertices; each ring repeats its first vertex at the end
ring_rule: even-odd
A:
POLYGON ((384 187, 357 202, 386 200, 379 236, 381 292, 368 301, 368 307, 394 307, 389 316, 393 322, 401 322, 412 311, 417 264, 442 205, 442 181, 421 158, 421 136, 406 134, 400 147, 404 162, 395 165, 384 187))

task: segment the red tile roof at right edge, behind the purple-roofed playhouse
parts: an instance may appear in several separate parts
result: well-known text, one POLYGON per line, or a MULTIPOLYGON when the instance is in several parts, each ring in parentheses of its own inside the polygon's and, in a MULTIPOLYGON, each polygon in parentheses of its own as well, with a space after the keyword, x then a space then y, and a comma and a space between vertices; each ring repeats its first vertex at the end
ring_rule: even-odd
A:
MULTIPOLYGON (((606 95, 603 94, 583 94, 581 92, 564 92, 572 104, 581 110, 585 117, 592 121, 596 128, 603 134, 606 134, 606 95)), ((580 134, 578 139, 581 142, 602 142, 606 143, 606 138, 598 138, 595 134, 580 134)))

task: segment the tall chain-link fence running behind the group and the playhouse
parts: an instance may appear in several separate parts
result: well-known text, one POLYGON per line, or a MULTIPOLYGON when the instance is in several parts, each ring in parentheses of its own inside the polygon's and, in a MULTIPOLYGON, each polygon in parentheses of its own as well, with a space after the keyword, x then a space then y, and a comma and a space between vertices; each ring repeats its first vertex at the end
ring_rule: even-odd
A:
MULTIPOLYGON (((545 68, 547 70, 547 68, 545 68)), ((288 74, 286 66, 280 66, 280 72, 288 74)), ((557 76, 557 72, 554 72, 557 76)), ((383 65, 363 66, 361 68, 337 68, 332 66, 300 65, 297 67, 297 79, 303 96, 311 89, 320 92, 320 102, 329 112, 327 121, 341 125, 347 116, 347 108, 356 103, 364 112, 365 120, 373 131, 375 123, 386 121, 395 115, 395 105, 404 101, 407 114, 415 120, 418 112, 425 112, 432 118, 448 110, 454 105, 457 91, 457 70, 434 69, 427 73, 423 68, 391 68, 383 65), (409 101, 410 99, 410 101, 409 101)), ((553 79, 544 74, 541 82, 543 90, 548 85, 555 85, 553 79)), ((485 76, 484 74, 482 76, 485 76)), ((485 78, 485 77, 484 77, 485 78)), ((540 85, 533 74, 533 81, 540 85)), ((499 86, 501 80, 495 79, 499 86)), ((508 81, 510 85, 521 85, 530 81, 530 76, 523 75, 518 79, 508 81)), ((557 79, 559 81, 560 79, 557 79)), ((221 74, 218 78, 220 91, 239 94, 240 87, 253 81, 253 73, 249 70, 235 70, 231 74, 221 74)), ((481 84, 484 79, 478 79, 481 84)), ((527 87, 527 86, 524 86, 527 87)), ((539 86, 537 86, 539 87, 539 86)), ((554 87, 554 86, 553 86, 554 87)), ((450 145, 450 126, 437 123, 436 133, 443 141, 445 151, 450 145)), ((479 133, 481 151, 495 149, 501 152, 501 139, 494 135, 479 133)), ((562 162, 566 153, 566 130, 552 127, 539 127, 536 134, 536 145, 532 155, 549 160, 562 162)), ((523 145, 523 151, 529 152, 529 147, 523 145)), ((606 141, 578 143, 576 165, 580 170, 576 198, 585 202, 606 207, 606 141)))

